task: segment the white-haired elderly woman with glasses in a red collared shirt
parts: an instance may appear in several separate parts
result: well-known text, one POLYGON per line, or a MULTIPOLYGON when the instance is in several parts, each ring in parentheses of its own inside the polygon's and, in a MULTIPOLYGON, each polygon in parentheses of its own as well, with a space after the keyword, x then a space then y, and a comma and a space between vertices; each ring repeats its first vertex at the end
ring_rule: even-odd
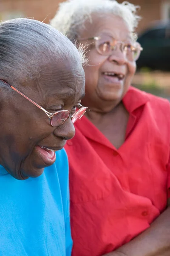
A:
POLYGON ((52 26, 87 45, 82 104, 68 141, 73 256, 170 256, 170 104, 130 87, 142 47, 136 6, 60 4, 52 26))

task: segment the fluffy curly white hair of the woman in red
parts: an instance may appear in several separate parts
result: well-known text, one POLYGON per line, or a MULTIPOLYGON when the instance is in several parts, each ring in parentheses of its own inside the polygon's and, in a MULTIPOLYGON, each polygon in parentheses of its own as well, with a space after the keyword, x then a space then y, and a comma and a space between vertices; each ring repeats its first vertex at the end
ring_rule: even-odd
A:
POLYGON ((130 32, 138 26, 140 17, 136 15, 139 6, 128 2, 121 4, 115 0, 67 0, 59 4, 59 10, 51 20, 51 26, 66 35, 71 41, 77 40, 80 29, 85 28, 85 21, 92 23, 92 14, 99 17, 113 14, 122 17, 130 32))

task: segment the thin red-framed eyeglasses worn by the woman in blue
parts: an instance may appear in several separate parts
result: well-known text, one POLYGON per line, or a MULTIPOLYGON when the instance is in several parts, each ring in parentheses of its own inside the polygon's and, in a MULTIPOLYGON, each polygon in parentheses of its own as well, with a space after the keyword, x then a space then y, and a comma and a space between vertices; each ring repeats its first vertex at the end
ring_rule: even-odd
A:
POLYGON ((51 119, 51 126, 53 127, 57 127, 59 125, 62 125, 68 118, 71 118, 71 121, 73 123, 75 123, 78 119, 80 119, 84 114, 85 111, 87 110, 88 107, 81 107, 78 111, 76 111, 72 116, 70 116, 70 112, 68 110, 59 110, 55 113, 50 113, 48 111, 46 111, 44 108, 42 108, 40 105, 38 105, 37 103, 35 103, 33 100, 29 99, 26 95, 24 95, 23 93, 21 93, 19 90, 17 90, 16 88, 14 88, 12 85, 8 84, 6 81, 4 81, 3 79, 0 79, 0 81, 3 81, 5 84, 7 84, 8 86, 11 87, 11 89, 13 89, 14 91, 16 91, 17 93, 19 93, 21 96, 23 96, 24 98, 28 99, 31 103, 33 103, 35 106, 37 106, 38 108, 40 108, 42 111, 45 112, 45 114, 51 119))

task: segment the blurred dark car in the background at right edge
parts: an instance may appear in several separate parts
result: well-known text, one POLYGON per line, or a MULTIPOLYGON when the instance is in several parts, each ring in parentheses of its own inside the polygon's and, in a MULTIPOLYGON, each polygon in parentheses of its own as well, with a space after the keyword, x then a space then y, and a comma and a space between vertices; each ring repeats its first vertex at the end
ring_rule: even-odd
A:
POLYGON ((143 51, 136 61, 137 68, 170 71, 170 21, 156 22, 138 37, 143 51))

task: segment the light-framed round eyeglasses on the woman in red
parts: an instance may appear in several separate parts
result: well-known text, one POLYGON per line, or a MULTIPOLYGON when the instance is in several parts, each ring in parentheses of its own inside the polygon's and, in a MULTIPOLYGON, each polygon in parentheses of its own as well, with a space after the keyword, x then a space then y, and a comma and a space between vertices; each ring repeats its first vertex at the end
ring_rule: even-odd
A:
POLYGON ((119 49, 124 53, 128 61, 136 61, 143 48, 138 42, 125 43, 116 41, 112 36, 103 34, 101 36, 91 38, 80 38, 79 40, 95 40, 95 47, 97 52, 101 55, 109 56, 113 54, 119 45, 119 49))

